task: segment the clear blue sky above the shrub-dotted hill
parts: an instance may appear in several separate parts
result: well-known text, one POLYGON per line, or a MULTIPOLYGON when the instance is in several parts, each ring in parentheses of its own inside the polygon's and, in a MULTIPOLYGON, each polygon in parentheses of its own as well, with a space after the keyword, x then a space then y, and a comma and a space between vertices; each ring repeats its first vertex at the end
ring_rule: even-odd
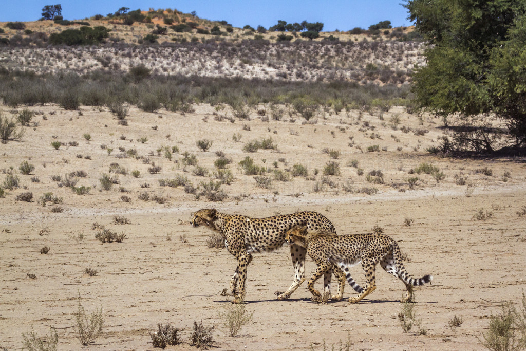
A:
POLYGON ((62 5, 62 15, 65 19, 83 19, 96 14, 106 15, 117 11, 120 7, 131 10, 140 8, 172 8, 184 13, 195 11, 201 18, 213 21, 225 20, 235 27, 250 25, 256 28, 262 25, 266 28, 275 25, 278 19, 288 23, 322 22, 323 31, 348 31, 354 27, 367 28, 380 21, 391 21, 393 26, 410 25, 408 13, 400 3, 403 0, 130 0, 130 1, 6 1, 0 12, 0 22, 36 21, 41 17, 45 5, 62 5))

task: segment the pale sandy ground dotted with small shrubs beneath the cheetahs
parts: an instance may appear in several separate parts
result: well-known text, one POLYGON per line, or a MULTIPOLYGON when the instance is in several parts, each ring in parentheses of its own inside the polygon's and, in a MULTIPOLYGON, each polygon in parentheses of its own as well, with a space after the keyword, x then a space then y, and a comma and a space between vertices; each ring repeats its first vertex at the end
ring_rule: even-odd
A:
MULTIPOLYGON (((153 349, 148 333, 157 323, 183 328, 181 337, 188 341, 194 321, 216 327, 213 349, 217 350, 339 349, 340 342, 367 350, 471 350, 482 348, 480 340, 489 316, 500 312, 501 300, 520 301, 526 285, 526 217, 517 214, 526 205, 524 158, 429 156, 426 148, 438 145, 444 133, 440 124, 433 119, 420 124, 417 116, 396 107, 381 118, 343 111, 320 116, 316 124, 301 124, 301 118, 263 122, 255 113, 250 121, 218 122, 214 107, 195 108, 195 113, 185 116, 131 108, 128 126, 122 126, 109 112, 92 107, 83 106, 81 113, 54 105, 31 107, 39 113, 34 117, 38 125, 24 127, 21 141, 0 144, 0 182, 7 173, 20 180, 19 188, 7 190, 0 198, 0 347, 21 349, 22 333, 31 332, 31 326, 41 336, 53 326, 60 328, 58 349, 82 349, 72 328, 80 296, 88 314, 97 307, 103 310, 103 333, 89 345, 94 350, 153 349), (396 130, 389 123, 395 115, 400 117, 396 130), (429 132, 417 136, 402 132, 402 126, 429 132), (89 141, 84 134, 90 134, 89 141), (239 142, 232 140, 233 134, 241 135, 239 142), (144 144, 138 141, 141 137, 147 137, 144 144), (262 137, 271 137, 278 149, 242 151, 247 142, 262 137), (204 138, 213 142, 207 152, 196 146, 204 138), (55 150, 52 141, 65 145, 55 150), (69 142, 78 142, 78 146, 69 142), (386 151, 367 152, 371 145, 386 151), (161 146, 177 146, 179 153, 170 161, 158 156, 161 146), (119 147, 136 149, 139 158, 148 158, 150 164, 139 158, 119 158, 123 154, 119 147), (113 149, 109 155, 107 148, 113 149), (322 152, 324 148, 340 151, 339 158, 330 158, 322 152), (195 154, 210 176, 195 176, 193 166, 184 167, 181 154, 185 151, 195 154), (222 186, 228 194, 224 202, 197 200, 182 187, 159 185, 159 179, 176 175, 186 176, 195 186, 209 182, 218 151, 232 159, 228 168, 235 176, 231 185, 222 186), (257 165, 284 172, 299 163, 309 175, 288 182, 273 180, 270 188, 259 188, 254 177, 244 175, 238 166, 246 156, 257 165), (351 160, 358 161, 363 175, 357 175, 351 160), (18 171, 23 161, 35 166, 30 175, 18 171), (326 178, 334 187, 326 185, 324 191, 314 192, 329 161, 340 164, 341 174, 326 178), (159 173, 148 173, 152 162, 161 166, 159 173), (445 178, 437 183, 430 175, 408 174, 423 162, 439 167, 445 178), (111 163, 125 167, 128 174, 110 173, 120 184, 102 190, 98 179, 108 173, 111 163), (492 175, 477 172, 484 167, 492 175), (86 195, 58 187, 51 179, 81 170, 87 177, 79 178, 77 186, 92 187, 86 195), (140 171, 138 178, 130 175, 133 170, 140 171), (372 170, 382 171, 384 184, 367 182, 366 175, 372 170), (504 177, 505 172, 509 177, 504 177), (407 179, 413 176, 420 180, 410 188, 407 179), (32 177, 39 182, 32 182, 32 177), (462 177, 466 185, 457 185, 462 177), (149 187, 141 187, 145 183, 149 187), (352 193, 344 186, 376 187, 378 192, 352 193), (16 200, 25 192, 33 193, 33 202, 16 200), (47 192, 62 197, 63 203, 43 207, 38 199, 47 192), (167 202, 138 199, 143 192, 166 197, 167 202), (123 202, 123 195, 131 201, 123 202), (53 213, 54 206, 62 207, 63 212, 53 213), (358 304, 345 300, 317 304, 310 300, 305 283, 290 300, 276 300, 274 293, 288 288, 294 273, 288 247, 282 247, 255 255, 248 268, 246 304, 253 318, 237 337, 229 336, 219 318, 228 298, 219 292, 228 287, 236 261, 226 249, 208 248, 206 239, 211 232, 191 228, 188 222, 191 213, 208 207, 255 217, 315 210, 327 216, 339 234, 382 227, 408 254, 410 274, 434 276, 431 286, 416 288, 415 293, 414 310, 427 334, 420 335, 416 327, 402 332, 398 314, 403 284, 381 269, 377 270, 377 290, 358 304), (475 219, 479 209, 491 216, 475 219), (115 216, 129 219, 130 224, 115 224, 115 216), (410 226, 405 225, 406 218, 413 220, 410 226), (124 242, 101 244, 93 223, 126 234, 124 242), (48 254, 40 253, 43 246, 50 247, 48 254), (83 273, 85 268, 98 273, 89 277, 83 273), (455 315, 463 323, 451 330, 448 321, 455 315)), ((2 110, 14 116, 10 108, 2 110)), ((307 274, 314 269, 308 258, 307 274)), ((354 267, 352 276, 363 285, 361 267, 354 267)), ((345 297, 354 294, 347 286, 345 297)), ((194 348, 181 344, 168 349, 194 348)))

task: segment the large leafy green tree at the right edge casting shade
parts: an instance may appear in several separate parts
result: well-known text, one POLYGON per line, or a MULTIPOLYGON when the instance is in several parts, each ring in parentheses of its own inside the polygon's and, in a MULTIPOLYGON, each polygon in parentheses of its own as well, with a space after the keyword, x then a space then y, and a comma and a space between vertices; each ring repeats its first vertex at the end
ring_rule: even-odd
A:
MULTIPOLYGON (((430 44, 427 65, 417 67, 418 107, 459 116, 460 149, 494 151, 508 125, 514 146, 526 146, 526 2, 517 0, 408 0, 411 21, 430 44)), ((446 145, 446 144, 444 144, 446 145)), ((451 144, 448 143, 448 146, 451 144)))

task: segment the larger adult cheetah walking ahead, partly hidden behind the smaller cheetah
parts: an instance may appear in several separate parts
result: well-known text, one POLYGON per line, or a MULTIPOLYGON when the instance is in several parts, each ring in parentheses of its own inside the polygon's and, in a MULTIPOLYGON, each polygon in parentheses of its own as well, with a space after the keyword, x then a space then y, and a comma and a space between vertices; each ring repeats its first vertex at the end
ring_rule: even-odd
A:
MULTIPOLYGON (((206 225, 212 230, 219 232, 225 239, 225 247, 228 252, 237 258, 238 265, 230 279, 230 290, 234 300, 232 303, 241 303, 245 299, 245 280, 247 277, 247 266, 252 260, 253 253, 261 253, 275 250, 285 243, 287 230, 294 226, 305 226, 309 230, 324 230, 326 233, 336 235, 336 229, 327 217, 316 212, 298 212, 267 218, 251 218, 241 215, 229 215, 219 213, 215 208, 200 209, 193 214, 191 225, 198 227, 206 225), (238 290, 239 283, 239 290, 238 290)), ((290 256, 295 268, 294 281, 285 293, 278 295, 278 299, 287 299, 305 280, 305 257, 306 248, 292 244, 290 245, 290 256)), ((345 286, 346 275, 338 266, 329 267, 323 275, 325 291, 330 291, 331 271, 334 270, 338 277, 338 294, 331 296, 332 299, 341 300, 343 297, 343 286, 345 286), (333 269, 332 269, 333 268, 333 269)), ((321 274, 320 274, 321 275, 321 274)), ((352 281, 350 275, 347 280, 352 281)), ((353 286, 351 284, 351 286, 353 286)), ((358 288, 357 285, 356 291, 358 288)), ((354 286, 353 286, 354 287, 354 286)))

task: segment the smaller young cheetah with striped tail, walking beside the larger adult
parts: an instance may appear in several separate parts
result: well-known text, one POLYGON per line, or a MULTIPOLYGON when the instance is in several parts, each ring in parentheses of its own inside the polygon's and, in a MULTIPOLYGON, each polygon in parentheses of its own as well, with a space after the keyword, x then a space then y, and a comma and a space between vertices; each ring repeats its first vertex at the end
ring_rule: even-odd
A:
POLYGON ((361 261, 367 284, 365 289, 357 289, 358 296, 349 297, 350 303, 359 302, 376 289, 375 270, 378 263, 383 270, 406 285, 407 295, 401 302, 412 300, 413 286, 429 283, 433 279, 431 275, 422 278, 410 276, 400 259, 400 247, 394 239, 385 234, 333 235, 323 230, 313 232, 305 226, 296 226, 287 231, 285 240, 291 245, 306 248, 309 256, 316 262, 316 273, 307 284, 314 296, 321 296, 314 288, 314 282, 335 264, 349 278, 349 267, 361 261))

